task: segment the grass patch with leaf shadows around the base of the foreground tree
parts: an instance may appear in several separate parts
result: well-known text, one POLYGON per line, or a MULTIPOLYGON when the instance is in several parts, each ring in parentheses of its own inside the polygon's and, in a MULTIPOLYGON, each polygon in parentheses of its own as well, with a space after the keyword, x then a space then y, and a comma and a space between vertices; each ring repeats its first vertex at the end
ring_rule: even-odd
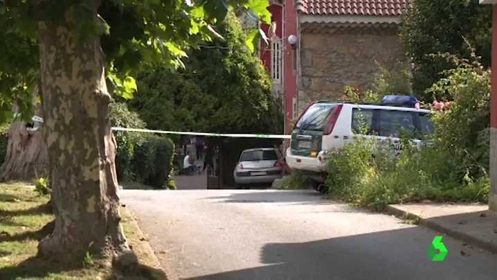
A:
POLYGON ((73 268, 37 259, 38 241, 53 220, 40 196, 24 183, 0 184, 0 279, 167 279, 131 213, 121 207, 123 229, 138 256, 139 268, 116 272, 89 259, 73 268), (125 275, 125 276, 124 276, 125 275))

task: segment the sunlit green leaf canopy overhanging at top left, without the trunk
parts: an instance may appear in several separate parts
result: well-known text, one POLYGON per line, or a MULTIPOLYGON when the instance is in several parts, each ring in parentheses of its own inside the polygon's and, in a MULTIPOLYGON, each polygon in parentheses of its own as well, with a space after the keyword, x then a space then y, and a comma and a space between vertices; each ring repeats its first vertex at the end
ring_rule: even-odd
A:
MULTIPOLYGON (((31 96, 39 81, 39 21, 66 24, 76 40, 99 36, 109 89, 132 98, 134 77, 140 71, 158 65, 183 67, 181 59, 190 47, 198 49, 203 42, 223 38, 213 26, 229 10, 252 10, 270 23, 268 4, 267 0, 0 0, 0 123, 12 119, 14 103, 24 119, 33 114, 31 96), (98 15, 93 3, 100 3, 98 15)), ((255 49, 262 32, 257 34, 246 42, 249 49, 255 49)))

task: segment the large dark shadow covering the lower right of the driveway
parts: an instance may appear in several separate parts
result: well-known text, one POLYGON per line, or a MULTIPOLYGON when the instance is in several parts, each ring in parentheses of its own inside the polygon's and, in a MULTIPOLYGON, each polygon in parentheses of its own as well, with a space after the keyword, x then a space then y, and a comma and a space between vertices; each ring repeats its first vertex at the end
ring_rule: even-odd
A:
POLYGON ((263 266, 189 279, 495 279, 497 256, 444 236, 449 253, 444 261, 431 261, 427 250, 438 234, 406 227, 305 243, 269 243, 260 252, 263 266))

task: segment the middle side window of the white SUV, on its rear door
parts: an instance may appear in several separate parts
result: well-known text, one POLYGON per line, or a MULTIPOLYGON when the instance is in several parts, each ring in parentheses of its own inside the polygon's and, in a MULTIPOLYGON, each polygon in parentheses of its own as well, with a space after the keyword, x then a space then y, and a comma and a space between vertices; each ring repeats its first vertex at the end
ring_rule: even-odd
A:
POLYGON ((399 137, 404 130, 410 134, 415 131, 413 112, 400 110, 380 110, 379 136, 399 137))

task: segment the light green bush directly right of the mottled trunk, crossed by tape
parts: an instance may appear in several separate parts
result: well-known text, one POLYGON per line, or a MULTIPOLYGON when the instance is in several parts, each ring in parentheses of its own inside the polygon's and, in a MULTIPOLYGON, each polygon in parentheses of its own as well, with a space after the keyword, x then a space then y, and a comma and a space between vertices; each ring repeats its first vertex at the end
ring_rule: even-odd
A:
MULTIPOLYGON (((111 125, 121 128, 145 128, 145 122, 135 112, 128 110, 125 103, 113 102, 109 106, 111 125)), ((118 180, 129 181, 134 179, 132 172, 132 157, 134 147, 142 143, 145 136, 141 132, 115 131, 116 138, 116 172, 118 180)))

